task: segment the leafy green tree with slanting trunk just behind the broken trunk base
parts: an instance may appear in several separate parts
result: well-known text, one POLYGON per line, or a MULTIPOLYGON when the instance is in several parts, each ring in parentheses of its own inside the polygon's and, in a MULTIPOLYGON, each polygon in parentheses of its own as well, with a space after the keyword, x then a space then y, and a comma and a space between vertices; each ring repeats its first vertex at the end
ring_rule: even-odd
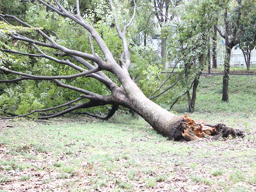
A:
MULTIPOLYGON (((209 11, 214 9, 214 5, 210 1, 191 1, 186 4, 180 4, 176 6, 175 14, 179 19, 175 19, 169 24, 168 28, 168 53, 171 54, 171 60, 174 63, 182 63, 185 65, 184 70, 176 77, 173 74, 169 74, 164 84, 168 81, 172 81, 171 78, 175 78, 175 81, 181 81, 179 87, 182 90, 180 94, 175 91, 175 96, 172 98, 171 107, 181 98, 184 94, 187 94, 189 101, 189 112, 195 110, 196 90, 199 84, 199 78, 202 74, 202 70, 209 63, 210 60, 207 50, 209 50, 209 37, 212 37, 210 29, 215 24, 215 12, 209 11), (184 75, 185 74, 185 75, 184 75), (184 76, 183 76, 184 75, 184 76), (190 90, 192 88, 192 93, 190 90)), ((173 71, 172 71, 173 72, 173 71)), ((178 84, 173 82, 171 88, 178 84)), ((167 93, 170 87, 162 84, 160 91, 152 94, 150 98, 157 98, 162 94, 167 93)), ((171 89, 172 90, 172 89, 171 89)), ((170 94, 170 93, 169 93, 170 94)), ((168 97, 168 95, 166 96, 168 97)))

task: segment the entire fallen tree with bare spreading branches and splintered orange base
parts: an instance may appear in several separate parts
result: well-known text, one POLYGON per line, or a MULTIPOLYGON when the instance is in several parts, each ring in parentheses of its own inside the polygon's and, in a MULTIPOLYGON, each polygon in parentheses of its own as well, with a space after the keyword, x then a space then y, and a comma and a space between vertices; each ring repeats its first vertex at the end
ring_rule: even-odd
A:
MULTIPOLYGON (((14 82, 14 81, 53 81, 58 87, 63 87, 65 89, 70 89, 73 91, 78 91, 80 93, 80 97, 74 99, 73 101, 69 101, 66 104, 55 106, 53 108, 47 109, 40 109, 31 111, 25 115, 17 115, 15 117, 22 117, 31 115, 35 112, 42 112, 42 111, 50 111, 56 108, 62 108, 64 106, 69 105, 69 108, 64 109, 64 111, 57 112, 56 114, 46 115, 37 117, 39 119, 47 119, 47 118, 54 118, 60 115, 64 115, 71 111, 77 110, 79 108, 92 108, 95 106, 102 106, 102 105, 112 105, 112 109, 109 111, 109 115, 106 117, 100 117, 97 115, 98 118, 111 118, 112 115, 118 110, 119 105, 125 108, 130 108, 133 111, 137 112, 142 118, 144 118, 158 133, 161 135, 167 136, 170 139, 175 140, 194 140, 199 139, 205 135, 220 135, 222 134, 223 137, 228 137, 231 135, 232 137, 236 137, 237 135, 242 135, 241 132, 237 132, 234 129, 227 128, 225 125, 202 125, 202 123, 197 123, 193 121, 191 118, 187 116, 178 116, 174 115, 171 112, 161 108, 161 106, 155 104, 153 101, 150 101, 144 93, 140 90, 136 83, 133 82, 132 78, 129 74, 130 69, 130 53, 128 49, 128 41, 126 39, 126 29, 132 24, 133 19, 136 13, 136 2, 133 1, 133 16, 130 19, 130 22, 126 24, 126 26, 121 29, 119 27, 119 21, 115 18, 115 25, 116 31, 119 35, 119 38, 123 41, 123 54, 119 59, 119 64, 112 56, 108 46, 103 41, 102 36, 95 30, 95 28, 85 22, 85 19, 80 14, 79 9, 79 1, 77 0, 77 13, 73 14, 71 12, 67 12, 66 9, 58 2, 54 0, 53 3, 44 2, 43 0, 38 0, 42 5, 45 5, 47 9, 53 12, 57 12, 57 14, 62 15, 72 21, 76 22, 78 25, 84 27, 89 33, 89 39, 92 47, 92 53, 84 53, 78 50, 71 50, 67 47, 61 46, 53 38, 51 38, 47 33, 43 32, 42 29, 33 28, 27 22, 23 22, 22 20, 16 18, 14 15, 4 15, 0 14, 2 20, 6 23, 9 23, 7 19, 14 19, 16 22, 22 24, 26 28, 30 30, 36 31, 36 33, 40 34, 41 39, 35 39, 29 36, 23 36, 19 33, 9 33, 9 36, 12 37, 13 42, 26 42, 29 43, 31 46, 38 53, 25 53, 19 52, 16 50, 9 50, 2 48, 2 52, 5 53, 12 53, 18 54, 20 56, 29 56, 29 57, 38 57, 38 58, 45 58, 47 60, 54 61, 61 65, 66 65, 68 67, 77 70, 77 74, 72 75, 60 75, 60 76, 40 76, 36 74, 29 74, 26 72, 16 71, 15 69, 9 69, 7 67, 0 67, 5 74, 16 74, 17 76, 21 76, 16 79, 12 80, 5 80, 0 82, 14 82), (42 39, 43 38, 43 39, 42 39), (99 46, 102 53, 95 53, 94 46, 92 43, 92 38, 99 46), (51 48, 53 51, 52 53, 45 53, 43 51, 43 47, 51 48), (67 59, 59 60, 57 57, 54 57, 54 53, 59 53, 59 55, 64 55, 65 57, 70 57, 76 61, 76 63, 71 62, 67 59), (104 57, 100 57, 99 55, 103 55, 104 57), (91 62, 91 63, 89 63, 91 62), (93 63, 93 64, 92 64, 93 63), (120 86, 114 83, 103 71, 109 71, 112 73, 121 84, 120 86), (81 87, 75 87, 74 85, 64 84, 61 80, 63 79, 72 79, 77 77, 90 77, 93 78, 95 81, 99 81, 104 84, 111 94, 109 95, 102 95, 97 94, 92 91, 88 91, 81 87), (76 105, 74 104, 76 101, 82 101, 76 105)), ((112 0, 109 0, 110 6, 112 10, 115 9, 115 6, 112 3, 112 0)), ((89 114, 88 115, 92 115, 89 114)), ((95 115, 92 115, 95 116, 95 115)), ((14 117, 1 117, 1 118, 14 118, 14 117)))

